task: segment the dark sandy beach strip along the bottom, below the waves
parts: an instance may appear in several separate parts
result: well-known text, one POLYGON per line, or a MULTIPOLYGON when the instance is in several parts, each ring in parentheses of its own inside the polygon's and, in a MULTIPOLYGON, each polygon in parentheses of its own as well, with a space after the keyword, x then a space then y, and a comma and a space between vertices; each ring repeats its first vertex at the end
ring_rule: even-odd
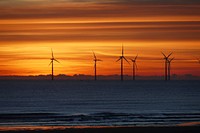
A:
POLYGON ((0 133, 200 133, 200 126, 164 127, 0 127, 0 133))

